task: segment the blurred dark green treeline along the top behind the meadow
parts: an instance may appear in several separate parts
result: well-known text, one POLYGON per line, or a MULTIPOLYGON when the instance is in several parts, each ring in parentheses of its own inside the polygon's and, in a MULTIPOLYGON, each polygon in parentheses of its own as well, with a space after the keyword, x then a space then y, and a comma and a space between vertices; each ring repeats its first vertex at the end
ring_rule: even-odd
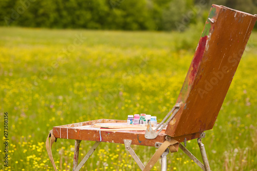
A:
POLYGON ((1 0, 0 25, 182 31, 211 4, 257 13, 257 0, 1 0))

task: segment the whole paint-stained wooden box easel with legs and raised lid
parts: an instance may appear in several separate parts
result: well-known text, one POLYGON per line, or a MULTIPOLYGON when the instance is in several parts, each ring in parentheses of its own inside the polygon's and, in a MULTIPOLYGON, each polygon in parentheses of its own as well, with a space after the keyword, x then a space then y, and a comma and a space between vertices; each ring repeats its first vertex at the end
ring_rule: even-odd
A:
POLYGON ((145 131, 112 131, 92 127, 94 124, 126 124, 121 120, 100 119, 53 127, 46 147, 54 169, 57 170, 51 146, 57 138, 63 138, 76 140, 72 170, 80 170, 100 142, 125 144, 141 170, 150 170, 159 158, 161 170, 166 170, 166 156, 169 151, 178 151, 178 147, 200 168, 210 170, 201 139, 205 137, 205 130, 213 128, 256 19, 257 15, 212 5, 177 103, 159 126, 153 129, 149 124, 145 131), (203 164, 181 144, 192 139, 197 139, 203 164), (78 164, 82 140, 96 143, 78 164), (158 150, 144 166, 131 148, 132 144, 155 146, 158 150))

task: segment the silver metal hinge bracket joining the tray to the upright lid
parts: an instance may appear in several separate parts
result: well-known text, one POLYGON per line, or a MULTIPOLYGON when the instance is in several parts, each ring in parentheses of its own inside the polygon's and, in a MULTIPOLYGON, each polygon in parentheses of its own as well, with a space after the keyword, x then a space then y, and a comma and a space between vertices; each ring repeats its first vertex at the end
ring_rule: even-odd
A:
POLYGON ((173 117, 176 115, 177 111, 179 110, 180 105, 177 103, 175 106, 173 106, 173 108, 170 110, 170 112, 166 115, 166 117, 163 118, 163 120, 161 121, 161 123, 156 127, 155 130, 153 130, 152 125, 151 125, 151 121, 148 123, 148 126, 146 128, 145 134, 144 134, 144 138, 146 139, 155 139, 160 132, 163 130, 164 127, 166 127, 169 122, 173 119, 173 117), (171 115, 172 113, 172 115, 171 115), (171 117, 168 119, 168 117, 171 115, 171 117), (168 119, 168 120, 167 120, 168 119), (167 120, 167 121, 166 121, 167 120), (165 122, 166 121, 166 122, 165 122), (165 123, 164 123, 165 122, 165 123), (164 124, 163 124, 164 123, 164 124), (163 124, 163 125, 162 125, 163 124), (162 127, 161 127, 162 126, 162 127), (159 129, 159 127, 161 127, 159 129), (159 130, 158 130, 159 129, 159 130), (158 130, 158 132, 156 132, 158 130))

